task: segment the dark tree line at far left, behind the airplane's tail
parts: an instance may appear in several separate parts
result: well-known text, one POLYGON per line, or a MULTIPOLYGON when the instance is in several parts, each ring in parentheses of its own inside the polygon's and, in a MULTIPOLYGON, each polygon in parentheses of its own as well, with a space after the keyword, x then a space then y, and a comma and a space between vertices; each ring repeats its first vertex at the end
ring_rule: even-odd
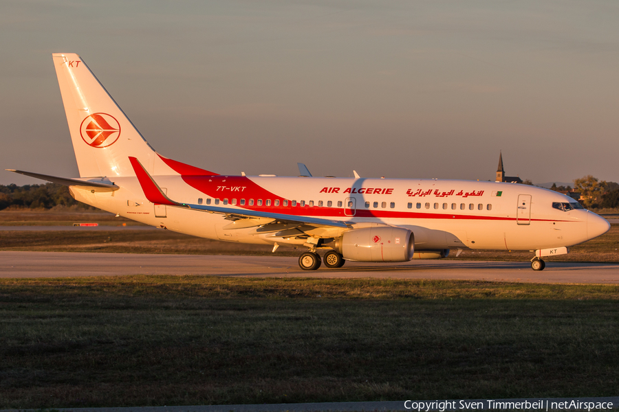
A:
POLYGON ((0 210, 7 207, 30 207, 32 209, 51 209, 54 206, 79 205, 85 209, 91 207, 75 201, 69 194, 69 187, 57 183, 45 183, 43 185, 23 185, 14 183, 0 185, 0 210))

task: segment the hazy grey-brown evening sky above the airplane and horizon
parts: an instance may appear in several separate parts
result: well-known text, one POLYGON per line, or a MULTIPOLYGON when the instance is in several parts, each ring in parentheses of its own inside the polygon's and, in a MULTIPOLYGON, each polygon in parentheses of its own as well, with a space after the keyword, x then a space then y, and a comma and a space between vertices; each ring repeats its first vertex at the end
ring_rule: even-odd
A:
POLYGON ((3 169, 78 176, 51 54, 220 174, 619 181, 619 2, 0 2, 3 169))

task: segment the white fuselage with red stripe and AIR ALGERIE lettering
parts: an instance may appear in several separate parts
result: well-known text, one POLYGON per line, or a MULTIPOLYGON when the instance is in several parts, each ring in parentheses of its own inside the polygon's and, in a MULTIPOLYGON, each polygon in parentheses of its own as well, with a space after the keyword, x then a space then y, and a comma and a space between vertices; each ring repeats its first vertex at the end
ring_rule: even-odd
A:
MULTIPOLYGON (((410 229, 415 251, 433 249, 528 250, 569 247, 605 233, 607 220, 585 209, 563 211, 553 203, 571 198, 541 187, 514 183, 422 179, 350 179, 277 176, 153 176, 179 203, 219 205, 311 216, 349 227, 391 225, 410 229)), ((72 187, 78 201, 155 227, 254 244, 303 244, 257 227, 236 229, 221 214, 153 205, 135 177, 115 179, 116 192, 72 187)), ((340 228, 316 229, 336 238, 340 228)))

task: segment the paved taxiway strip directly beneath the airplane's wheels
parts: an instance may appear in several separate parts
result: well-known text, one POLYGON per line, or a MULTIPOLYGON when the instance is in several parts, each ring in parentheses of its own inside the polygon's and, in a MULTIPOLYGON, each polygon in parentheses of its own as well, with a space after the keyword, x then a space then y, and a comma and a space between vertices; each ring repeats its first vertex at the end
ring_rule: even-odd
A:
POLYGON ((302 271, 297 258, 230 255, 155 255, 0 251, 0 277, 113 275, 217 275, 250 277, 378 277, 472 279, 494 282, 619 284, 619 264, 413 260, 406 263, 346 262, 343 268, 302 271))

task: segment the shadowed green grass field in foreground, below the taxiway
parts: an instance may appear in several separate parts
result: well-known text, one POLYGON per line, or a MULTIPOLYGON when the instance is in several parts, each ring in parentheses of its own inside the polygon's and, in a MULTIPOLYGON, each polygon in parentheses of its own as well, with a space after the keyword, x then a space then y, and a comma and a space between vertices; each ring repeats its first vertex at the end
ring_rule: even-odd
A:
POLYGON ((0 279, 0 408, 613 396, 619 286, 0 279))

